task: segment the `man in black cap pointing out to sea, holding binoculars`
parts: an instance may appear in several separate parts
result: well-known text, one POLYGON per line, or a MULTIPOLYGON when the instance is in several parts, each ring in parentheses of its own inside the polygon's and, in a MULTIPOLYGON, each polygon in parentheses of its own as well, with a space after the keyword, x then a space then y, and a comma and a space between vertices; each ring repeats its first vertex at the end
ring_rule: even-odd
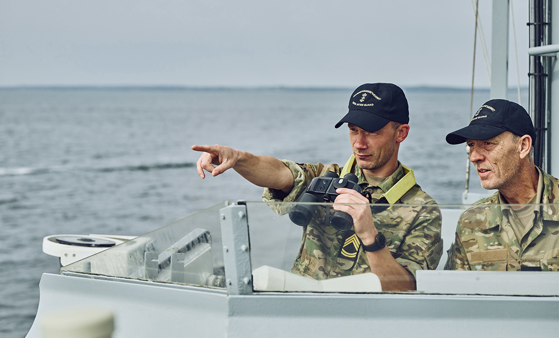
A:
POLYGON ((353 92, 349 112, 335 125, 338 128, 348 123, 349 127, 353 154, 344 167, 280 161, 220 145, 192 149, 204 152, 197 162, 200 177, 205 177, 204 170, 216 176, 233 168, 266 188, 264 201, 295 202, 312 178, 333 171, 340 177, 354 173, 373 202, 385 196, 384 203, 427 205, 394 207, 373 214, 366 197, 340 188, 333 209, 351 216, 352 230, 337 231, 331 225, 313 222, 304 226, 301 249, 291 269, 315 279, 373 272, 383 290, 410 290, 415 289, 415 271, 437 267, 442 239, 437 204, 415 184, 413 171, 398 161, 400 143, 408 136, 408 122, 408 101, 398 86, 364 84, 353 92), (400 193, 389 192, 396 185, 401 187, 396 189, 400 193))

